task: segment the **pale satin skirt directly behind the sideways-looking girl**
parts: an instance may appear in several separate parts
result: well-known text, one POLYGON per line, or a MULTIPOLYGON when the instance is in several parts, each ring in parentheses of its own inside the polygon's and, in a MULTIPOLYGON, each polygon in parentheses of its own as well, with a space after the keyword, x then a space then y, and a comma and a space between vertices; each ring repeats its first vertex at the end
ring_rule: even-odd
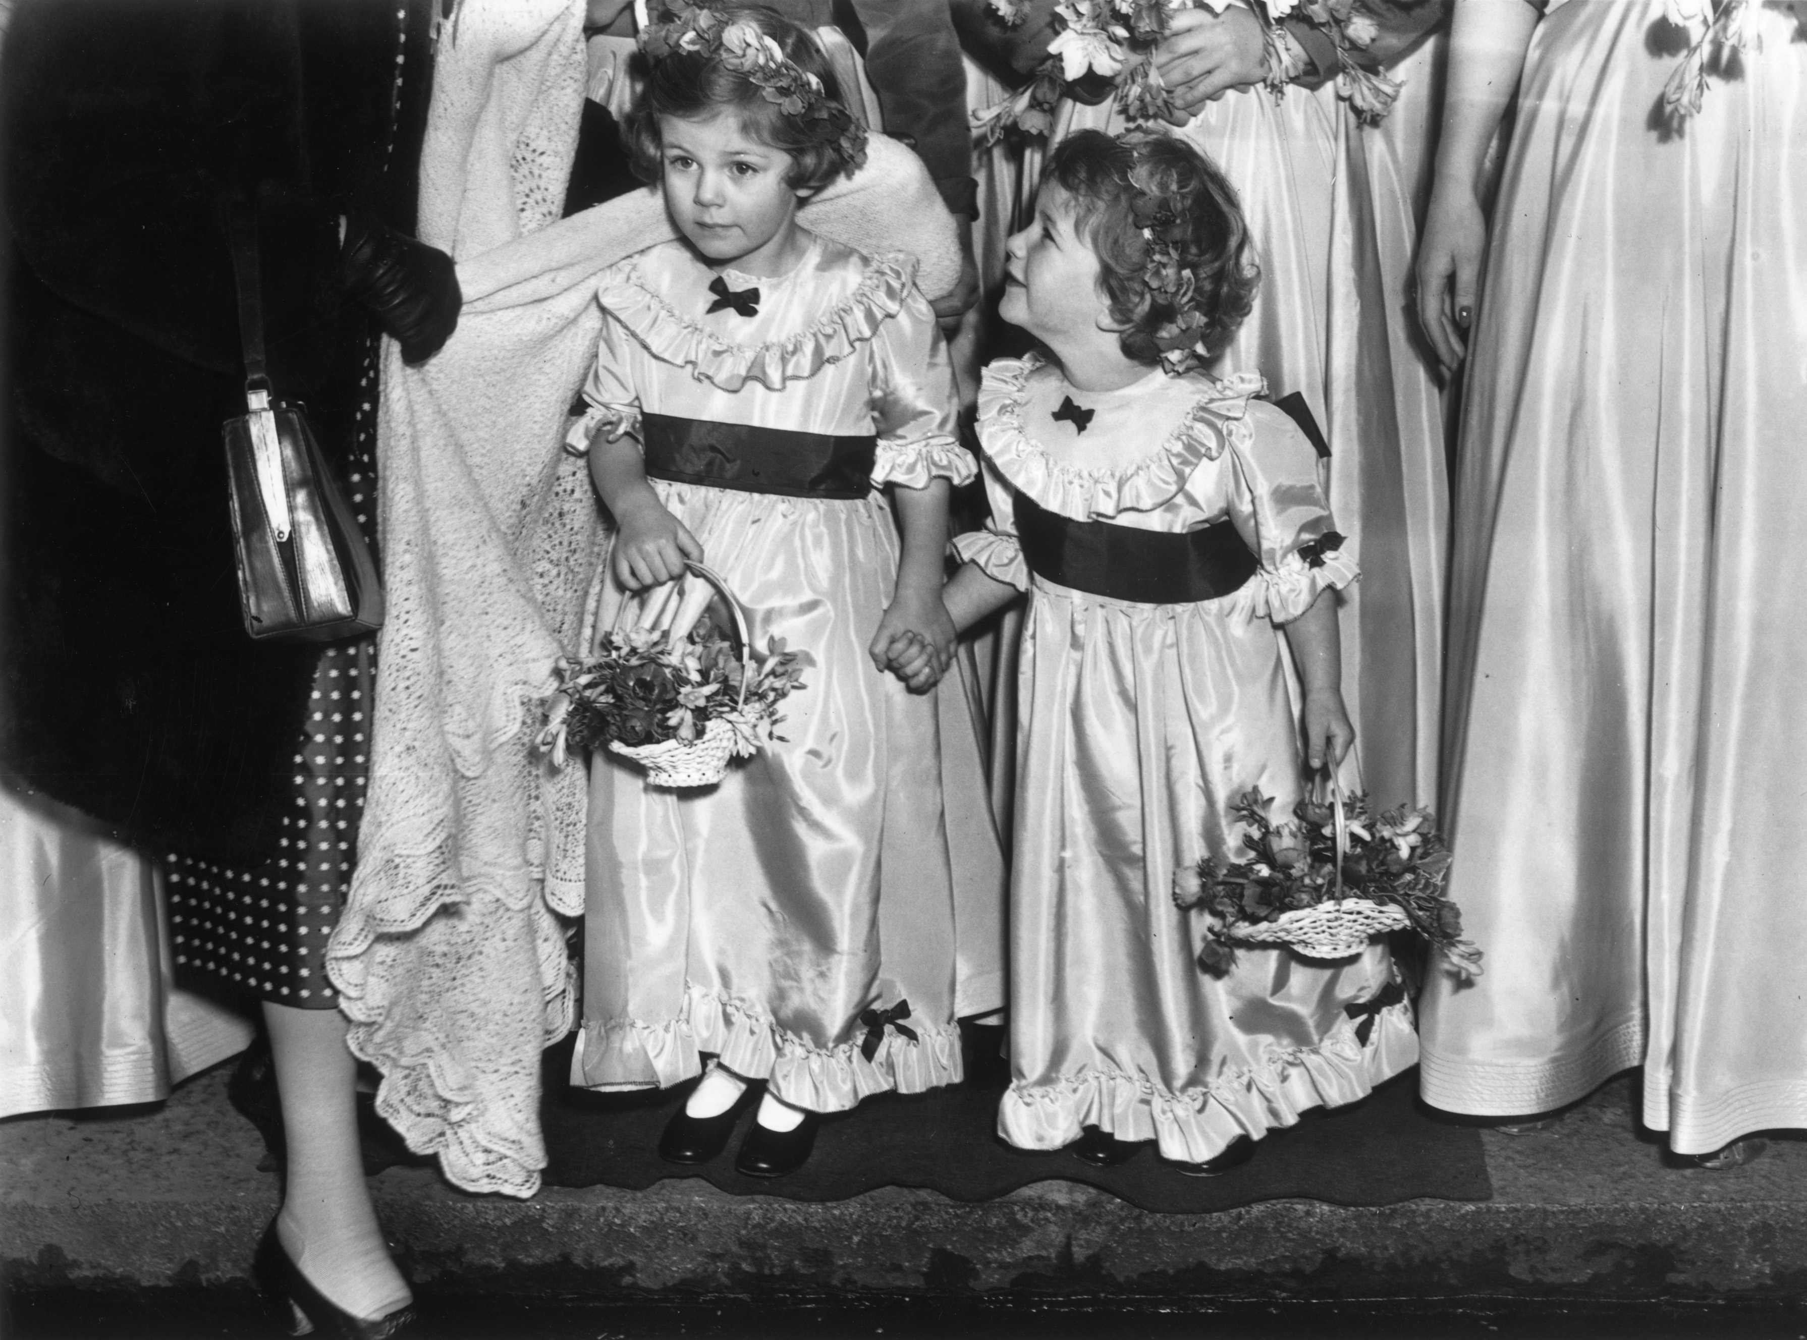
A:
MULTIPOLYGON (((1236 88, 1173 132, 1236 188, 1261 267, 1254 309, 1211 370, 1256 372, 1276 399, 1297 392, 1330 444, 1325 488, 1366 574, 1341 596, 1357 737, 1344 777, 1381 805, 1433 804, 1438 787, 1446 433, 1435 372, 1404 329, 1435 90, 1426 60, 1408 61, 1395 125, 1362 126, 1332 81, 1278 101, 1236 88)), ((1115 101, 1063 103, 1050 146, 1081 128, 1128 123, 1115 101)))

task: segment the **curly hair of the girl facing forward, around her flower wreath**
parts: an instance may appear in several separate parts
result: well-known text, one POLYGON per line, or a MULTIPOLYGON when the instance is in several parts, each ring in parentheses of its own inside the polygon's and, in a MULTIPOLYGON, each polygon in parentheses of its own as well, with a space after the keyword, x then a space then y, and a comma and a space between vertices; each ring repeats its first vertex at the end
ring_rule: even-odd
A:
MULTIPOLYGON (((791 23, 766 5, 712 5, 726 23, 750 23, 763 36, 777 42, 784 58, 804 74, 822 81, 824 94, 846 105, 840 81, 828 63, 815 36, 791 23)), ((705 52, 678 51, 658 61, 645 61, 645 83, 634 110, 622 126, 622 141, 632 161, 634 175, 643 182, 658 182, 665 175, 665 144, 660 137, 660 117, 708 117, 734 110, 741 128, 761 144, 791 155, 784 184, 793 191, 815 191, 846 172, 833 141, 811 135, 799 117, 788 116, 750 78, 730 70, 705 52)))

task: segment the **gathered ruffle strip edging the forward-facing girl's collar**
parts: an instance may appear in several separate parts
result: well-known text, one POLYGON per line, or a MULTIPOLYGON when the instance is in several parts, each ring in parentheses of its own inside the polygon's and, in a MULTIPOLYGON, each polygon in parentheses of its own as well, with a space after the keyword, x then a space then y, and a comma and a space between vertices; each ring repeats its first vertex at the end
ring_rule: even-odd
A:
POLYGON ((880 325, 904 311, 914 285, 913 258, 867 258, 866 275, 853 293, 813 325, 764 345, 734 345, 692 321, 641 282, 638 258, 622 273, 604 276, 596 300, 654 358, 688 367, 721 390, 739 390, 748 381, 784 390, 793 377, 811 377, 822 365, 853 356, 878 334, 880 325))

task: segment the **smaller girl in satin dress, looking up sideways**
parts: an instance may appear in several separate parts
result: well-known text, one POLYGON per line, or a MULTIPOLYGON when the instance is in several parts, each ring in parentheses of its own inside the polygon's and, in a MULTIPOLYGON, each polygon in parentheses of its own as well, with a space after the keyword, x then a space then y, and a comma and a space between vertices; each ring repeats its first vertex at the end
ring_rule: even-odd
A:
MULTIPOLYGON (((1243 791, 1274 796, 1276 820, 1301 796, 1281 632, 1305 760, 1335 766, 1353 742, 1334 589, 1355 567, 1317 457, 1252 399, 1259 377, 1194 370, 1249 312, 1247 249, 1234 191, 1182 141, 1086 130, 1050 155, 1001 309, 1046 354, 985 370, 992 524, 956 540, 945 592, 956 627, 1030 594, 997 1125, 1097 1165, 1153 1140, 1218 1172, 1417 1060, 1409 1006, 1373 1000, 1384 946, 1335 963, 1243 948, 1207 975, 1202 926, 1173 901, 1176 872, 1241 856, 1243 791)), ((932 657, 898 670, 932 677, 932 657)))

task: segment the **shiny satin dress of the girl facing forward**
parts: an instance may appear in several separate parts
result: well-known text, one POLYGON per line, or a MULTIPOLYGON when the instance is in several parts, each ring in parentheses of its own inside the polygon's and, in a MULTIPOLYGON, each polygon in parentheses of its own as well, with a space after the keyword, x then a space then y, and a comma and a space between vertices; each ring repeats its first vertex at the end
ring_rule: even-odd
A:
POLYGON ((878 453, 858 500, 652 480, 755 643, 781 637, 815 668, 784 701, 786 739, 714 787, 656 789, 614 755, 591 760, 573 1084, 669 1087, 716 1055, 788 1103, 842 1111, 960 1080, 956 1015, 1003 1004, 1003 863, 961 688, 913 695, 867 656, 900 553, 884 486, 974 475, 913 273, 815 238, 781 278, 721 271, 732 291, 759 291, 754 316, 708 312, 717 273, 678 242, 600 280, 593 408, 575 442, 661 414, 876 433, 878 453), (945 731, 965 739, 943 748, 945 731), (978 813, 949 813, 950 795, 978 813), (914 1037, 885 1026, 867 1056, 860 1015, 902 1004, 914 1037))

